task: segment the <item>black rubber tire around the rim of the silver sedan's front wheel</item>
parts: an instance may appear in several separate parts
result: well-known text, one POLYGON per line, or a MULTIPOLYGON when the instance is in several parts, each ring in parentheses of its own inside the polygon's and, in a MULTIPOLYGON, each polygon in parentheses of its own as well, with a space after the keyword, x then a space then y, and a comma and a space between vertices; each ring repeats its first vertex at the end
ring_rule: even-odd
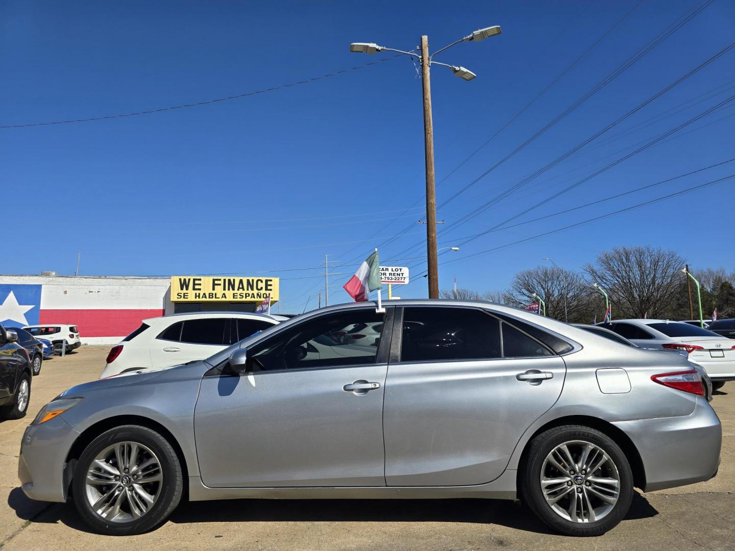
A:
MULTIPOLYGON (((113 484, 121 486, 117 483, 113 484)), ((76 510, 94 531, 106 536, 132 536, 147 532, 168 518, 182 499, 184 480, 179 458, 168 440, 150 428, 139 425, 122 425, 102 433, 87 446, 76 464, 71 485, 76 510), (140 518, 131 519, 129 522, 112 522, 111 519, 105 519, 93 510, 90 499, 87 497, 87 470, 97 455, 118 442, 135 442, 147 447, 156 455, 162 472, 162 480, 159 483, 154 503, 140 518)), ((95 488, 100 487, 101 491, 107 491, 111 486, 96 486, 95 488)), ((123 510, 126 503, 122 505, 123 510)), ((127 508, 129 510, 129 505, 127 508)))

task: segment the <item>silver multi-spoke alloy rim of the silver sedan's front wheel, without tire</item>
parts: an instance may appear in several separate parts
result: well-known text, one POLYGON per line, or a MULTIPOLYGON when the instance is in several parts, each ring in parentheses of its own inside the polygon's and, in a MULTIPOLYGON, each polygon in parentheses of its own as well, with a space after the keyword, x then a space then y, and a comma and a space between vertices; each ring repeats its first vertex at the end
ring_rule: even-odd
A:
POLYGON ((116 442, 87 469, 87 503, 103 519, 132 522, 151 510, 163 484, 161 463, 138 442, 116 442))

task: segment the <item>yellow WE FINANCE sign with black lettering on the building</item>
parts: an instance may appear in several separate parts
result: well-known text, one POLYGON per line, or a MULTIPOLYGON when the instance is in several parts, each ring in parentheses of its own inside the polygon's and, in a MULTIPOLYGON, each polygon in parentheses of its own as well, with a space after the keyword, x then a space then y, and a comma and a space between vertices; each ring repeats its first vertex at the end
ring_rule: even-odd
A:
POLYGON ((279 278, 220 278, 173 275, 171 302, 261 302, 279 298, 279 278))

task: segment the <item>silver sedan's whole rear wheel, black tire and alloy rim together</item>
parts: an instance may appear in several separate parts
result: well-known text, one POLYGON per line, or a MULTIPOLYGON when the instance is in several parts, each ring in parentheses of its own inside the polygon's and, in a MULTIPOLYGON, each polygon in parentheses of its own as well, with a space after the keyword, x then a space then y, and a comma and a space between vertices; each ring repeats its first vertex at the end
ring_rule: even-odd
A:
POLYGON ((628 513, 633 473, 609 436, 583 425, 565 425, 539 434, 530 446, 521 494, 554 530, 600 536, 628 513))

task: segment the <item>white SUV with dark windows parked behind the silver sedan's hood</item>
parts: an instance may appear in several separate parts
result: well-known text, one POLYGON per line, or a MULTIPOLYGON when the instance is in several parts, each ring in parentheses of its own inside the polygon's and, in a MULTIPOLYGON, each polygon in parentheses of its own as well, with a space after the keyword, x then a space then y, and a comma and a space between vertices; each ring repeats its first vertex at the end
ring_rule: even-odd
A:
POLYGON ((139 328, 112 347, 100 378, 203 360, 287 319, 249 312, 210 311, 143 320, 139 328))

